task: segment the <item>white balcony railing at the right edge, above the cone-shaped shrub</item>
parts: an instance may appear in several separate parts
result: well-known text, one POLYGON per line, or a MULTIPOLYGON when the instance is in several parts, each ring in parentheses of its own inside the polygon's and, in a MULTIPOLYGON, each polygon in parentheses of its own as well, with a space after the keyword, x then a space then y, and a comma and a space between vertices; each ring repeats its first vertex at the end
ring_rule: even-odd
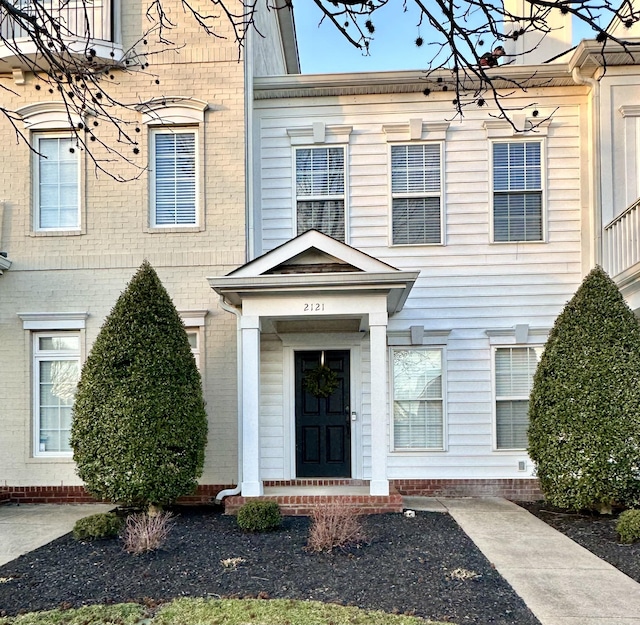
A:
POLYGON ((611 277, 640 263, 640 199, 604 227, 604 260, 611 277))

